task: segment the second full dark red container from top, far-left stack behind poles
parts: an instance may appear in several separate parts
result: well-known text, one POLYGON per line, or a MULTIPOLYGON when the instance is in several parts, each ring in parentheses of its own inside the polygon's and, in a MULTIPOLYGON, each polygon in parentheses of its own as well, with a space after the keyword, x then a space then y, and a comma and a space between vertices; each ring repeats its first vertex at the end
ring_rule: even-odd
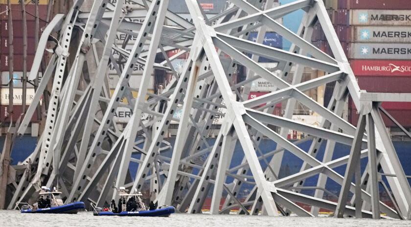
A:
MULTIPOLYGON (((43 22, 43 21, 39 22, 39 28, 40 29, 42 29, 45 26, 46 26, 46 22, 43 22)), ((36 22, 35 21, 27 21, 27 37, 34 38, 35 27, 36 27, 36 22)), ((8 37, 8 28, 9 28, 8 21, 7 20, 1 21, 0 36, 2 38, 7 38, 8 37)), ((40 38, 40 35, 41 35, 41 32, 39 31, 39 38, 40 38)), ((15 37, 15 38, 23 37, 23 21, 13 20, 13 37, 15 37)))

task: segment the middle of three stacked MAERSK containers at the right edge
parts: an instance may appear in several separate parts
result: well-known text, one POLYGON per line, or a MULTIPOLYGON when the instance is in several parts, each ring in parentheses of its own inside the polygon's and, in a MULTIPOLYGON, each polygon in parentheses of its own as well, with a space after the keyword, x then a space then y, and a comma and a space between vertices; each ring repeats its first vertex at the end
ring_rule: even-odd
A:
POLYGON ((355 26, 351 35, 360 43, 411 43, 410 26, 355 26))

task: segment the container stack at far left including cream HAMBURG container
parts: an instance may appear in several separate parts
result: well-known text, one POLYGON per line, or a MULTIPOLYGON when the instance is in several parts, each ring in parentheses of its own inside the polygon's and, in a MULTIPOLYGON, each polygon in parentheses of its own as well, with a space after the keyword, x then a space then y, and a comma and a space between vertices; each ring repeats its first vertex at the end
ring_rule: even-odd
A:
MULTIPOLYGON (((20 0, 11 0, 11 9, 9 10, 7 0, 0 1, 0 121, 10 122, 12 118, 16 121, 20 114, 23 113, 22 110, 22 94, 23 94, 23 14, 20 0), (9 22, 8 19, 12 17, 13 20, 13 75, 9 75, 9 22), (9 85, 13 83, 13 115, 10 116, 8 113, 9 99, 9 85)), ((30 70, 31 65, 34 60, 34 55, 36 51, 35 44, 35 15, 36 15, 36 0, 25 1, 25 11, 26 11, 26 25, 27 25, 27 70, 30 70)), ((38 0, 38 15, 39 15, 39 28, 46 26, 46 15, 47 15, 47 3, 48 0, 38 0)), ((40 37, 39 32, 39 37, 40 37)), ((28 76, 29 72, 27 72, 28 76)), ((27 83, 26 89, 26 104, 31 103, 31 99, 34 96, 34 88, 31 84, 27 83)), ((28 108, 28 106, 27 106, 28 108)), ((37 121, 37 114, 33 115, 32 122, 37 121)))

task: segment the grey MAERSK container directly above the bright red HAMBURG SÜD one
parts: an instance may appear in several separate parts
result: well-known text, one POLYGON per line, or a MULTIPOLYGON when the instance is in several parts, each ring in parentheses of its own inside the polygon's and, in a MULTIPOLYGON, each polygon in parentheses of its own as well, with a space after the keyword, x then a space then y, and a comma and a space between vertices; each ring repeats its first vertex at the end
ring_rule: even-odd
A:
POLYGON ((350 43, 351 59, 411 59, 411 44, 350 43))

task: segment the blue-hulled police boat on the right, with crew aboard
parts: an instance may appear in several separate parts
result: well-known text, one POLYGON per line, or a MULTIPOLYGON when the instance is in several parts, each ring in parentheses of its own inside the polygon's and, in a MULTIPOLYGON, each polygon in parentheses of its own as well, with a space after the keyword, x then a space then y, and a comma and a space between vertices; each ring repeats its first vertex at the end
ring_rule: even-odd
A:
POLYGON ((118 207, 113 200, 110 207, 96 207, 91 203, 91 207, 94 209, 94 216, 137 216, 137 217, 168 217, 170 214, 176 212, 174 206, 164 206, 157 208, 156 204, 150 203, 147 207, 141 199, 141 192, 130 194, 125 187, 116 189, 120 199, 118 201, 118 207))

